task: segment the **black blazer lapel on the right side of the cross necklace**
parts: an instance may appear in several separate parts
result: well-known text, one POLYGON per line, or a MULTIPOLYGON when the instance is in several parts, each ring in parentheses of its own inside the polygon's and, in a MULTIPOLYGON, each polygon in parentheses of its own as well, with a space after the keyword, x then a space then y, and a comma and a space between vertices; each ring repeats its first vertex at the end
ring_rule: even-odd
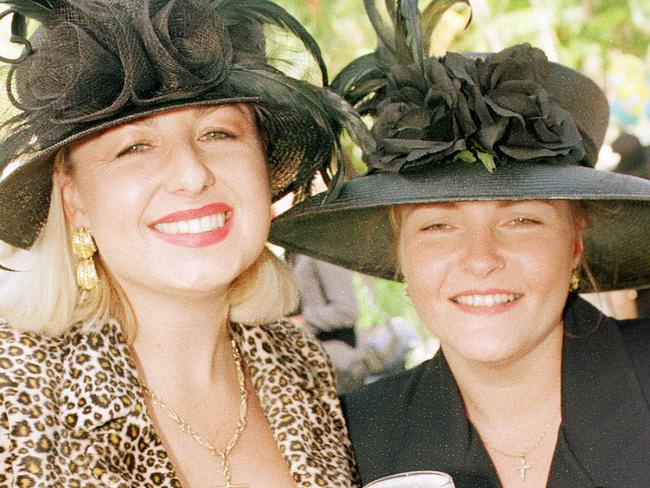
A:
POLYGON ((548 486, 638 488, 650 482, 650 407, 621 330, 583 300, 568 305, 565 325, 562 435, 548 486))

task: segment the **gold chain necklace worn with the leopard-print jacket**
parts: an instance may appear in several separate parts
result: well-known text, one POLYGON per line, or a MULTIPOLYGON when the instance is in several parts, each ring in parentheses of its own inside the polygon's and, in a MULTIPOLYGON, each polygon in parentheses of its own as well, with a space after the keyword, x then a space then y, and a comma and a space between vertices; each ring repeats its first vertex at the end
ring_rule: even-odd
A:
POLYGON ((141 382, 140 384, 142 385, 142 391, 148 395, 149 398, 151 398, 151 401, 155 405, 161 408, 165 415, 167 415, 176 423, 176 425, 178 425, 181 431, 192 436, 192 439, 194 439, 197 444, 206 448, 210 454, 218 457, 221 460, 221 465, 223 466, 223 477, 226 481, 226 484, 217 488, 247 488, 249 485, 233 484, 232 471, 230 469, 230 459, 228 459, 228 456, 234 449, 237 441, 241 437, 242 432, 244 432, 244 429, 246 428, 246 417, 248 415, 248 391, 246 391, 246 379, 244 377, 244 368, 242 367, 241 355, 239 354, 239 349, 237 349, 235 341, 231 340, 230 344, 232 346, 232 355, 235 359, 235 365, 237 367, 237 381, 239 382, 239 418, 237 419, 237 428, 235 429, 235 432, 228 441, 226 447, 223 449, 217 448, 205 437, 199 435, 187 420, 178 415, 178 413, 173 408, 171 408, 163 401, 160 395, 158 395, 144 383, 141 382))

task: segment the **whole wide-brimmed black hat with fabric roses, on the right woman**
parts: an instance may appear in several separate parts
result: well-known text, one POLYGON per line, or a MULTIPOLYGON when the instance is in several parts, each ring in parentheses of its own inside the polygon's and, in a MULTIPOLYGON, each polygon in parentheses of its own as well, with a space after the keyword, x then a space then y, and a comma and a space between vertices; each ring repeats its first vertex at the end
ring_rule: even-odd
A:
MULTIPOLYGON (((379 49, 333 83, 374 117, 367 174, 279 216, 271 240, 396 279, 393 205, 593 200, 585 257, 598 288, 650 286, 650 182, 594 169, 609 114, 598 86, 527 44, 423 55, 427 37, 413 4, 394 9, 392 38, 371 11, 379 49)), ((591 290, 588 280, 581 285, 591 290)))

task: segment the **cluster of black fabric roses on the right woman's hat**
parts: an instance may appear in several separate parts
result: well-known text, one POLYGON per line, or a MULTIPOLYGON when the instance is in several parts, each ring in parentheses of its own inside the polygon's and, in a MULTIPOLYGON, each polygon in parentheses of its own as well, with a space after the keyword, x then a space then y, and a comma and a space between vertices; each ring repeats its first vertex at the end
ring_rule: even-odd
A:
POLYGON ((379 101, 371 171, 403 171, 450 158, 572 163, 585 151, 571 114, 543 87, 543 51, 528 44, 486 58, 450 53, 393 67, 379 101))

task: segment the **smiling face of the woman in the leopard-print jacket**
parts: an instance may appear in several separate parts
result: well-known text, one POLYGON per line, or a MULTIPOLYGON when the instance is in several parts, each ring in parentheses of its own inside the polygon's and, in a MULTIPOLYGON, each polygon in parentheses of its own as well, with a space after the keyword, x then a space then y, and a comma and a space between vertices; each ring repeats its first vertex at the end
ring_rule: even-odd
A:
POLYGON ((70 148, 66 216, 127 295, 224 294, 270 225, 263 144, 245 105, 149 116, 70 148))

